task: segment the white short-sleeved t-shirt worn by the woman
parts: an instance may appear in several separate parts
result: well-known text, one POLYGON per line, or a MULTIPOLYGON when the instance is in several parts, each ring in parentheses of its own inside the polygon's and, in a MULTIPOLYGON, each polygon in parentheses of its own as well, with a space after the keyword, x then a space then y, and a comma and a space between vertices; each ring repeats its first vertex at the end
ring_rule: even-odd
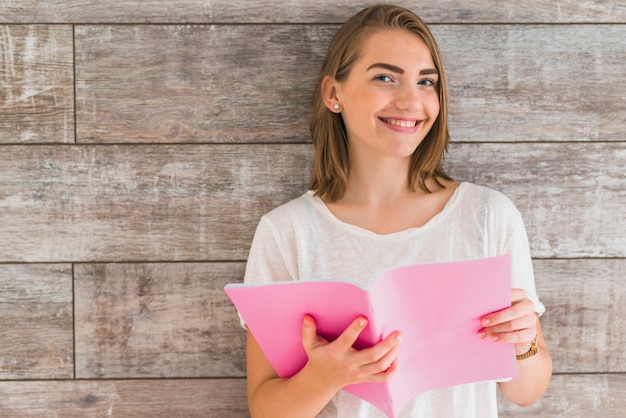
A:
MULTIPOLYGON (((252 242, 246 283, 348 279, 366 285, 377 273, 410 263, 472 260, 510 254, 512 286, 523 288, 542 314, 521 215, 503 194, 461 183, 444 209, 425 225, 380 235, 337 219, 312 191, 261 218, 252 242)), ((400 418, 497 417, 496 382, 424 393, 400 418)), ((369 403, 340 391, 323 418, 385 418, 369 403)))

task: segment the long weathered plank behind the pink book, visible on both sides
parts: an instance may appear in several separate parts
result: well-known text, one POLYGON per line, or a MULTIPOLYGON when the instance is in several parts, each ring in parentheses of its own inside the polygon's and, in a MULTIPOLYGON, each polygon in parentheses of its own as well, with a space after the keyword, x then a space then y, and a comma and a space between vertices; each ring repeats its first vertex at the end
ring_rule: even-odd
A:
MULTIPOLYGON (((556 373, 626 372, 625 268, 624 259, 535 260, 556 373)), ((243 271, 244 263, 77 265, 77 377, 243 376, 244 333, 222 290, 243 271)))

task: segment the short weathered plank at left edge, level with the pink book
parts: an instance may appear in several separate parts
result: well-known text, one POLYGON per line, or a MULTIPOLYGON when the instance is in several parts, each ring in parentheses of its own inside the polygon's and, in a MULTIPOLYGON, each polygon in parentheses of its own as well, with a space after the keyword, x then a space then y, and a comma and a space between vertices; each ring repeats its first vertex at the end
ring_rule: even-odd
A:
POLYGON ((73 377, 72 266, 0 264, 0 330, 0 379, 73 377))

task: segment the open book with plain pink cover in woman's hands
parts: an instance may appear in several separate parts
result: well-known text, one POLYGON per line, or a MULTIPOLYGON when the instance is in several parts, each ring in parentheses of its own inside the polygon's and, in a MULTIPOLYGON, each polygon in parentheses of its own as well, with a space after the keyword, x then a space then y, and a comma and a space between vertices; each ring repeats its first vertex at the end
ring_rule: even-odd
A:
POLYGON ((359 315, 367 317, 359 349, 401 331, 399 370, 392 379, 344 388, 389 417, 420 393, 517 374, 512 344, 478 337, 481 316, 511 305, 509 256, 399 266, 373 277, 367 289, 324 279, 229 284, 224 290, 281 377, 307 362, 305 314, 329 340, 359 315))

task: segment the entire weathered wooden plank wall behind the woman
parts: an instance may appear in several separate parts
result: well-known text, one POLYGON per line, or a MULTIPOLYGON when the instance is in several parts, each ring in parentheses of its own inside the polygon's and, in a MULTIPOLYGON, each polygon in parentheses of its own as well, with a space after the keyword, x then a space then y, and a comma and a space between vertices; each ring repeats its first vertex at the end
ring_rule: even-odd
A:
MULTIPOLYGON (((305 190, 322 56, 368 3, 0 0, 0 416, 248 416, 222 287, 305 190)), ((623 417, 626 4, 398 3, 443 50, 450 172, 527 223, 555 375, 501 415, 623 417)))

